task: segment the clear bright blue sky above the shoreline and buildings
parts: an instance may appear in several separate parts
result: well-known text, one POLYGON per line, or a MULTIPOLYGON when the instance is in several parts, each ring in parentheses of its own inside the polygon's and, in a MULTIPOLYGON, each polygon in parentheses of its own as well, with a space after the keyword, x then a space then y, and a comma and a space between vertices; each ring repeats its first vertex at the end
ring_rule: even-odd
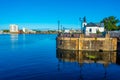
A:
POLYGON ((0 29, 9 24, 20 28, 57 29, 60 20, 64 27, 79 28, 79 17, 87 22, 99 22, 104 17, 120 19, 120 0, 0 0, 0 29))

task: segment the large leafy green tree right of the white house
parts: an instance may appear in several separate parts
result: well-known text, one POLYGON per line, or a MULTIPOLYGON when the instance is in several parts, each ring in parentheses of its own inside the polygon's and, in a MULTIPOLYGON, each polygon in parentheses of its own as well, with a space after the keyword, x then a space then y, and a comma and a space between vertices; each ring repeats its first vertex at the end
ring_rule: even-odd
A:
POLYGON ((101 22, 104 23, 106 30, 111 31, 117 30, 117 24, 119 23, 119 19, 116 19, 116 17, 114 16, 110 16, 104 18, 101 22))

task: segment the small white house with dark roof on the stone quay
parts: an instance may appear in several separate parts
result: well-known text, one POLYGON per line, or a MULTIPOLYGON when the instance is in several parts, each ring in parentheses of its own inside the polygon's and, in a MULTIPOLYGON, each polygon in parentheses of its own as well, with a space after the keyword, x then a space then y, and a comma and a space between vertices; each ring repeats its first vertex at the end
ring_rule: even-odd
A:
POLYGON ((90 33, 104 32, 104 23, 88 23, 83 28, 84 33, 89 35, 90 33))

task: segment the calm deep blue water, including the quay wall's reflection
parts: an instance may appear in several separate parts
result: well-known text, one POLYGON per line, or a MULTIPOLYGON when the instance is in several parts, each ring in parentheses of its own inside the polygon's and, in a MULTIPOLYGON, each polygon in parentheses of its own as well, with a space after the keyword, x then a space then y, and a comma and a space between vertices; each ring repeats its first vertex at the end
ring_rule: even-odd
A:
POLYGON ((116 52, 56 50, 56 35, 0 35, 0 80, 119 80, 116 52))

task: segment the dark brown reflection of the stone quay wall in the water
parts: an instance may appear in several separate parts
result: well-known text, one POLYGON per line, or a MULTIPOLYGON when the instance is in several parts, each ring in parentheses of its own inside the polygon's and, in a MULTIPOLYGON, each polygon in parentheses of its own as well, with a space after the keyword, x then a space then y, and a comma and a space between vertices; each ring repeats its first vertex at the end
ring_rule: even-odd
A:
POLYGON ((107 66, 116 63, 116 52, 80 52, 57 50, 57 58, 63 62, 101 63, 107 66))

